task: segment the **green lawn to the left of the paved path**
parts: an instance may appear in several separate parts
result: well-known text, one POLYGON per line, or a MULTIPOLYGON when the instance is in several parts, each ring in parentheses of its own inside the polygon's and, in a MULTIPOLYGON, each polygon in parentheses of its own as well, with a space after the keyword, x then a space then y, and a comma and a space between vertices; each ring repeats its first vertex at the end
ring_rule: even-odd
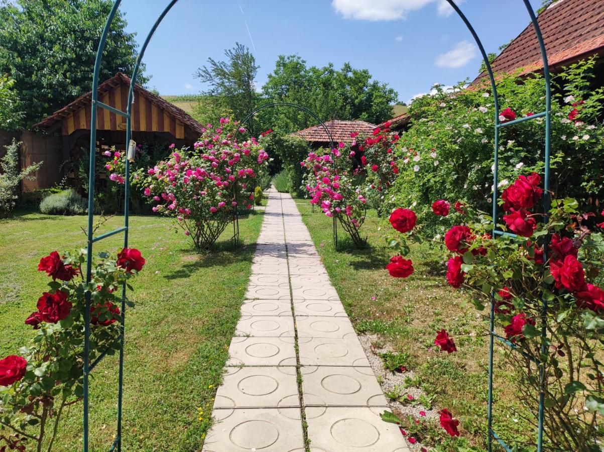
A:
MULTIPOLYGON (((227 228, 216 251, 196 254, 168 219, 130 217, 130 244, 141 250, 147 263, 133 282, 137 306, 126 316, 127 450, 201 450, 262 218, 257 211, 240 219, 239 250, 232 251, 232 229, 227 228)), ((121 218, 112 218, 103 230, 121 223, 121 218)), ((83 225, 84 216, 28 214, 0 221, 0 356, 14 354, 32 335, 24 320, 48 282, 36 271, 40 257, 84 246, 83 225)), ((115 251, 120 247, 117 237, 96 249, 115 251)), ((108 357, 93 373, 91 450, 108 450, 114 439, 117 363, 117 356, 108 357)), ((82 404, 71 407, 57 440, 55 450, 81 450, 82 404)))

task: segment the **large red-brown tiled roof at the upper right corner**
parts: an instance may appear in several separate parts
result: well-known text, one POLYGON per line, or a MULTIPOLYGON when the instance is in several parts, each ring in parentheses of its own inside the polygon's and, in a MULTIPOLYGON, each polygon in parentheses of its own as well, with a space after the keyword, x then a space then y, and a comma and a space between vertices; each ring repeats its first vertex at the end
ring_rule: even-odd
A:
MULTIPOLYGON (((604 1, 559 0, 537 18, 543 34, 550 69, 573 63, 593 54, 604 55, 604 1)), ((543 68, 533 24, 516 37, 493 61, 494 73, 521 74, 543 68)), ((480 74, 474 82, 486 77, 480 74)))

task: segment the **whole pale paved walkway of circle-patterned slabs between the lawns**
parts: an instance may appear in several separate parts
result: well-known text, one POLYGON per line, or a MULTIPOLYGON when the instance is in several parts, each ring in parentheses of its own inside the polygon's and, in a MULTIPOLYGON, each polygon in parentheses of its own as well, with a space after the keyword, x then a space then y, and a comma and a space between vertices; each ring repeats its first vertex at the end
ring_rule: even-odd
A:
POLYGON ((269 194, 245 298, 204 451, 408 451, 289 195, 269 194))

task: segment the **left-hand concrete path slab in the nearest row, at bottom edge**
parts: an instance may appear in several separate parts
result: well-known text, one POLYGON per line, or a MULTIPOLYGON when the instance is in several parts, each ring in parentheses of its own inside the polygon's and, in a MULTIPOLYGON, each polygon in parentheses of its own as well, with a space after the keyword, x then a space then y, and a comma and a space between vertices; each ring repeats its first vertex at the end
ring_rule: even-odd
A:
MULTIPOLYGON (((231 410, 226 410, 231 411, 231 410)), ((302 424, 294 415, 300 408, 246 408, 214 424, 204 443, 204 452, 295 452, 304 450, 302 424)))

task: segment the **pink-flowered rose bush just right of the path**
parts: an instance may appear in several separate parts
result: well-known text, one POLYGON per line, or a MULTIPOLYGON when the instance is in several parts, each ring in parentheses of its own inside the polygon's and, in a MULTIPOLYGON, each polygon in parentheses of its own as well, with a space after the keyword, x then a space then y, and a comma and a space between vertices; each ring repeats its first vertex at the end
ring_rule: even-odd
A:
POLYGON ((361 227, 367 214, 365 190, 356 184, 350 153, 342 150, 344 143, 329 153, 310 152, 300 166, 307 169, 306 190, 311 204, 321 206, 323 213, 335 217, 349 234, 355 246, 365 245, 361 227))

